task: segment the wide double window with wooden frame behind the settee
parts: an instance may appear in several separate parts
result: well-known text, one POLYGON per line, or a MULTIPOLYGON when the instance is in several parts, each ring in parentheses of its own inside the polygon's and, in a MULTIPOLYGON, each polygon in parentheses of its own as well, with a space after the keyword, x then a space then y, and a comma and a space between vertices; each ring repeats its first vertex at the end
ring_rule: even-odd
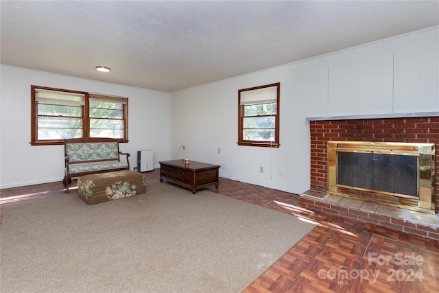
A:
POLYGON ((32 145, 111 137, 128 142, 128 97, 31 86, 32 145))

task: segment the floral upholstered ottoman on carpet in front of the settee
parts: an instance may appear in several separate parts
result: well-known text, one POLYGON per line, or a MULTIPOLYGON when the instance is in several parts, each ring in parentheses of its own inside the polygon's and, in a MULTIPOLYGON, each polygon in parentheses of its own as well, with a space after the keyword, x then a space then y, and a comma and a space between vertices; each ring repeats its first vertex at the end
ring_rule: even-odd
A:
POLYGON ((130 170, 84 175, 78 179, 79 197, 88 204, 144 194, 145 175, 130 170))

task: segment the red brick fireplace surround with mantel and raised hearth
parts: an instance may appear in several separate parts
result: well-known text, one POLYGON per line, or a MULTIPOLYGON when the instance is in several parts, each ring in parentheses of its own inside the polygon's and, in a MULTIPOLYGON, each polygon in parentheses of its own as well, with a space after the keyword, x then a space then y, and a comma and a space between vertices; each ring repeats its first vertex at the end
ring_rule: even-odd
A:
MULTIPOLYGON (((327 194, 327 141, 372 141, 402 143, 434 143, 435 155, 435 210, 439 214, 439 113, 401 115, 346 116, 307 118, 311 138, 311 182, 305 194, 327 194), (425 114, 425 115, 423 115, 425 114)), ((301 205, 307 209, 335 213, 362 222, 381 224, 388 228, 406 231, 439 240, 436 226, 413 224, 389 215, 368 213, 360 209, 340 207, 302 197, 301 205)), ((439 225, 438 225, 439 226, 439 225)))

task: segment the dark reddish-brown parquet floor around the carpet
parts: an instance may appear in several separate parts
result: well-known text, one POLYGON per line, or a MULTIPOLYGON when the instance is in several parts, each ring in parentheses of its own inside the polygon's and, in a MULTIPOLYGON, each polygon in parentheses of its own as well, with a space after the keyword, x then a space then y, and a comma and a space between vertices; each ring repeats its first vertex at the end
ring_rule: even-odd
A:
MULTIPOLYGON (((146 172, 158 179, 159 171, 146 172)), ((170 184, 170 183, 166 183, 170 184)), ((71 186, 75 186, 73 181, 71 186)), ((300 207, 299 196, 220 178, 209 190, 292 213, 316 228, 244 290, 250 292, 439 292, 439 242, 300 207)), ((1 189, 8 202, 62 196, 62 183, 1 189)))

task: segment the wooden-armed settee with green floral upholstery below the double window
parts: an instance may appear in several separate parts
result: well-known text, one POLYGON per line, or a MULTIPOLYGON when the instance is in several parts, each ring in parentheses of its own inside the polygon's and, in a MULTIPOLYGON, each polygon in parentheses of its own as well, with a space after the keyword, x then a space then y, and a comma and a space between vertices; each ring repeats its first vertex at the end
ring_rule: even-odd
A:
POLYGON ((71 178, 88 174, 129 170, 130 154, 119 151, 119 141, 107 138, 64 140, 64 185, 67 194, 71 178), (121 162, 120 156, 126 156, 121 162))

